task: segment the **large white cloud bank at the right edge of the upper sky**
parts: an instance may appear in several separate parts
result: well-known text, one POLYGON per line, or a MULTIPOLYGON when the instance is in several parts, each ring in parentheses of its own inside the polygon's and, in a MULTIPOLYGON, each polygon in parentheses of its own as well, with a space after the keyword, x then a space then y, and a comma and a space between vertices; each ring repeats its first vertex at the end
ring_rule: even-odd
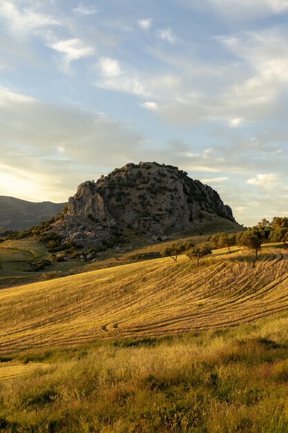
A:
POLYGON ((174 125, 224 122, 231 128, 283 118, 287 44, 287 35, 279 29, 213 38, 212 49, 220 50, 222 64, 154 50, 167 68, 178 71, 177 86, 167 88, 164 97, 155 93, 157 116, 174 125))

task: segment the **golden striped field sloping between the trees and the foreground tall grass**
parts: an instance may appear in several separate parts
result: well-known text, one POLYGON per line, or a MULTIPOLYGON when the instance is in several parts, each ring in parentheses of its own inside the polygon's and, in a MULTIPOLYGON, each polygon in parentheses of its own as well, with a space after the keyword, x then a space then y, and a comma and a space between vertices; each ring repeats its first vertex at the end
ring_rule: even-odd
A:
POLYGON ((288 307, 287 250, 215 252, 96 270, 0 292, 0 352, 250 322, 288 307))

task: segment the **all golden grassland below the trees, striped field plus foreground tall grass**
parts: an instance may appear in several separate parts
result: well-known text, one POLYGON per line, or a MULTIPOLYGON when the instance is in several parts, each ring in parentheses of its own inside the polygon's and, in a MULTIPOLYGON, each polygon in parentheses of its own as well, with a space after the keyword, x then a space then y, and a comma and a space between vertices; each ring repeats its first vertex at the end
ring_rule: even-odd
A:
POLYGON ((2 289, 0 432, 287 432, 288 252, 259 256, 2 289))

